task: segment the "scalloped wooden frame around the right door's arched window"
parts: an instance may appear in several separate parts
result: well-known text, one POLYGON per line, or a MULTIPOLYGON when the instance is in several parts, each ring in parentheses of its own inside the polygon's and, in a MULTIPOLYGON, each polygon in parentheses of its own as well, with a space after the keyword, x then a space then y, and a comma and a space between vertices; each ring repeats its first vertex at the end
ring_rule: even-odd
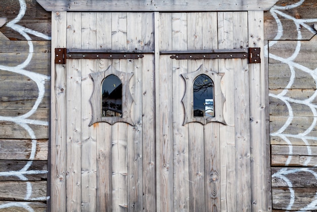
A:
POLYGON ((209 122, 219 122, 226 125, 223 116, 223 107, 225 97, 222 94, 220 83, 224 73, 217 73, 213 70, 208 70, 206 67, 201 65, 195 72, 182 74, 183 79, 186 83, 186 90, 182 103, 185 109, 185 118, 183 125, 190 122, 200 122, 203 125, 209 122), (194 117, 193 116, 193 82, 200 75, 207 75, 214 82, 214 112, 215 117, 194 117))

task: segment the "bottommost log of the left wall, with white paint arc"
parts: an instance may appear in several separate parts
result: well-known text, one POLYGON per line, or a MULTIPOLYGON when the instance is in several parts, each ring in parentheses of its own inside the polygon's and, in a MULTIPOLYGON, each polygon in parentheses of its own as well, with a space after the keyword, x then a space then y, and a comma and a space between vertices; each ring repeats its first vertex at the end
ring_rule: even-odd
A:
POLYGON ((43 212, 47 210, 45 202, 36 201, 23 201, 23 202, 12 202, 12 201, 0 201, 0 212, 25 212, 27 208, 32 208, 34 212, 43 212))

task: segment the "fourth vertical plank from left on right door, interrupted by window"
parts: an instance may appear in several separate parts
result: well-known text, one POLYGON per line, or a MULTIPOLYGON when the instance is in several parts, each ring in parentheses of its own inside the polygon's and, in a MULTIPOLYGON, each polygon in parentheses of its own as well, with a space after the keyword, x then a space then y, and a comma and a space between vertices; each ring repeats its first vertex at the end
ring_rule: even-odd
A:
MULTIPOLYGON (((217 13, 203 13, 203 49, 217 49, 217 13)), ((208 69, 218 72, 218 60, 205 60, 208 69)), ((204 126, 206 211, 221 211, 220 124, 204 126)))

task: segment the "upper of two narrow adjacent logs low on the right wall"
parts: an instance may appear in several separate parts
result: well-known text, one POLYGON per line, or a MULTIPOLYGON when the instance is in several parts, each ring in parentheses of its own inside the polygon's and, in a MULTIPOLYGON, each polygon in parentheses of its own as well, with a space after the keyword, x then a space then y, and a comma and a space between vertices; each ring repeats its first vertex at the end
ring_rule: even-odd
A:
POLYGON ((272 155, 317 156, 317 146, 271 145, 272 155))

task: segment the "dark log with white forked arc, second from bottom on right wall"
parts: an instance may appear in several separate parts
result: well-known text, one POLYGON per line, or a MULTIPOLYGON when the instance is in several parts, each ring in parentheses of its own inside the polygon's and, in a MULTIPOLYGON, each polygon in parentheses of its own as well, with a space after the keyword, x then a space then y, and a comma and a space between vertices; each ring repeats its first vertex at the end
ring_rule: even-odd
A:
POLYGON ((272 188, 317 188, 317 179, 311 173, 317 172, 317 168, 271 168, 272 188), (285 180, 287 179, 287 180, 285 180))

